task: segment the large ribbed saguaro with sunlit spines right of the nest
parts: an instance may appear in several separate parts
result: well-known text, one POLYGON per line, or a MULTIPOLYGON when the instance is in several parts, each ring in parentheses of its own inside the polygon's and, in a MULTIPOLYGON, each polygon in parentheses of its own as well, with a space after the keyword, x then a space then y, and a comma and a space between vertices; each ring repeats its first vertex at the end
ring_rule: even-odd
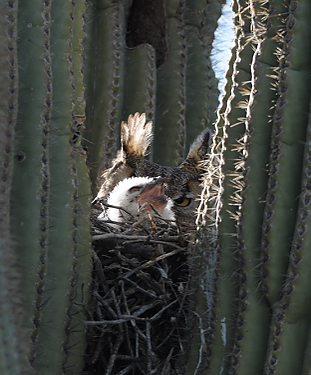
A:
POLYGON ((236 46, 202 195, 217 232, 208 373, 305 374, 311 6, 237 0, 234 11, 236 46))

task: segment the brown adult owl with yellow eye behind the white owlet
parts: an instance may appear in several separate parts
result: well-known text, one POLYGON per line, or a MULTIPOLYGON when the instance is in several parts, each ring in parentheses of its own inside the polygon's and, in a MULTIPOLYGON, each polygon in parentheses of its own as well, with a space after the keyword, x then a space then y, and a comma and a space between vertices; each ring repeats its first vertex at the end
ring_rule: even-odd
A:
MULTIPOLYGON (((146 123, 145 114, 130 115, 121 123, 121 149, 101 178, 101 187, 95 201, 109 200, 120 181, 130 177, 162 177, 164 193, 174 202, 172 209, 181 224, 194 223, 197 197, 200 193, 202 163, 209 154, 210 130, 205 130, 192 144, 186 159, 178 167, 165 167, 145 158, 152 142, 152 123, 146 123)), ((130 180, 128 181, 130 183, 130 180)), ((130 189, 130 187, 129 187, 130 189)))

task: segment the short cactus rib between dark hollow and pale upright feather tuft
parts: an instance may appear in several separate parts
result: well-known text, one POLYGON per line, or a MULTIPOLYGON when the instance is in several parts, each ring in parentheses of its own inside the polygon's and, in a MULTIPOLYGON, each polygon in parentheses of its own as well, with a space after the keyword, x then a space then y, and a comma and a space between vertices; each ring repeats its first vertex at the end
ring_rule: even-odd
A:
POLYGON ((136 112, 154 121, 156 66, 155 51, 149 44, 126 50, 126 77, 123 118, 136 112))

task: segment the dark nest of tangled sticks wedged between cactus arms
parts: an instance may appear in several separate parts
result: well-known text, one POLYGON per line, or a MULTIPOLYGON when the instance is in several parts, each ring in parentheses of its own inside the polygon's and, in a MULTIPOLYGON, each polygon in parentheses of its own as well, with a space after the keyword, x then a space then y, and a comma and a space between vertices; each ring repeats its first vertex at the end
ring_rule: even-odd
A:
POLYGON ((194 228, 145 218, 118 228, 93 210, 85 374, 183 374, 194 228))

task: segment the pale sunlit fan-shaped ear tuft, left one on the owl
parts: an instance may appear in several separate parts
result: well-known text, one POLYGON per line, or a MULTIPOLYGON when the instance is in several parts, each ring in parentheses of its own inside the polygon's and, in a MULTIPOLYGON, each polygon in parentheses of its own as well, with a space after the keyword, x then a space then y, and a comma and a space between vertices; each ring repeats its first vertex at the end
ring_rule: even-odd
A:
POLYGON ((152 121, 146 122, 146 115, 136 112, 127 122, 121 123, 121 152, 127 155, 144 157, 152 142, 152 121))

